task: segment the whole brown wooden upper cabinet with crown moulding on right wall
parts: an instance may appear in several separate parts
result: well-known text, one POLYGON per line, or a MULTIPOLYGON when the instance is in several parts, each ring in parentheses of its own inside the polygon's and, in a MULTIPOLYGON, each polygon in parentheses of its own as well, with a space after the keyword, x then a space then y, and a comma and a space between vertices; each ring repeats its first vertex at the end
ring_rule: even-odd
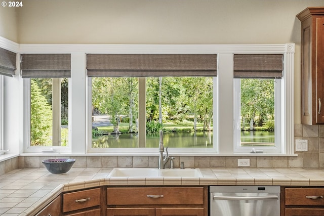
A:
POLYGON ((302 22, 302 123, 324 123, 324 7, 297 14, 302 22))

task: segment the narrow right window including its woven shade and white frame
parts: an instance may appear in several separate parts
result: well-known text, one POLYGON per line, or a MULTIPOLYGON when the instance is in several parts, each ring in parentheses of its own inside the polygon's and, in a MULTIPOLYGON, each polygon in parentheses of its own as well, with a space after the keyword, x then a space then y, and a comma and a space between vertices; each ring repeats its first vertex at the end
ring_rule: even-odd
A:
POLYGON ((234 152, 281 152, 284 55, 234 54, 234 152))

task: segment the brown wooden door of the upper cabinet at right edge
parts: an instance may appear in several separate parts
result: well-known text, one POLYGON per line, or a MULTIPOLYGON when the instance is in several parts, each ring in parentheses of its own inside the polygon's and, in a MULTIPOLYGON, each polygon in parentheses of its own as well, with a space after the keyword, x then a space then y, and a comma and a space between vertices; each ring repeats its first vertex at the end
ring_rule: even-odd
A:
POLYGON ((324 17, 316 18, 316 123, 324 123, 324 17))

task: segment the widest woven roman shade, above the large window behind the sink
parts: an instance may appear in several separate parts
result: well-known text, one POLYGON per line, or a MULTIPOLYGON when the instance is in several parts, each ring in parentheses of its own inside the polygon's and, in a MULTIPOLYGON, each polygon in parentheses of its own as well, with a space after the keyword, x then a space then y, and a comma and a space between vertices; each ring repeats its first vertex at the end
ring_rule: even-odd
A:
POLYGON ((217 76, 215 54, 88 54, 89 77, 217 76))

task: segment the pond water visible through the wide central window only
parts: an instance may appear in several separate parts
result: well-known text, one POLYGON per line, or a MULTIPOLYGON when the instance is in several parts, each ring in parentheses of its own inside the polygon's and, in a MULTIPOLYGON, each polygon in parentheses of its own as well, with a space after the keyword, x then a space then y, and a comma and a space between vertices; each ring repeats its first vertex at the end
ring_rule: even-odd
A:
MULTIPOLYGON (((165 147, 170 148, 212 148, 213 132, 165 133, 165 147)), ((158 148, 159 135, 146 135, 146 147, 158 148)), ((138 148, 137 134, 105 135, 92 138, 93 148, 138 148)))

